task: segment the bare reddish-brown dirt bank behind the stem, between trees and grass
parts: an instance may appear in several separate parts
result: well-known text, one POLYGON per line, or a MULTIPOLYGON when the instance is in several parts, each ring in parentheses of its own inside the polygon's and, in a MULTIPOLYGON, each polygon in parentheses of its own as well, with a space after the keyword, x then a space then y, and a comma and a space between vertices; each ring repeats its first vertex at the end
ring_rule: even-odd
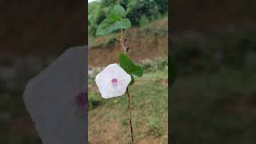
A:
MULTIPOLYGON (((150 23, 148 32, 142 28, 133 28, 126 31, 126 37, 129 41, 130 51, 128 55, 134 62, 139 62, 143 59, 154 59, 161 56, 166 56, 168 53, 168 34, 160 30, 166 29, 167 18, 150 23), (148 37, 148 38, 147 38, 148 37)), ((102 42, 104 37, 96 38, 93 42, 102 42)), ((90 46, 90 44, 89 44, 90 46)), ((89 67, 106 66, 107 64, 118 62, 118 54, 121 51, 121 46, 118 43, 110 44, 106 47, 96 46, 92 47, 88 53, 89 67)))

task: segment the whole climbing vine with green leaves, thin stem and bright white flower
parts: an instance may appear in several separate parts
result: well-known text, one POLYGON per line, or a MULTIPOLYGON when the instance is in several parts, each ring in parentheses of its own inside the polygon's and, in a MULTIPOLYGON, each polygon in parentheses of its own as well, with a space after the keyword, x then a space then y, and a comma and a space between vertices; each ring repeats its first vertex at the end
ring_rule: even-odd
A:
POLYGON ((132 110, 130 108, 131 95, 129 94, 129 90, 131 89, 129 89, 129 87, 132 86, 135 82, 134 76, 142 77, 143 70, 141 66, 134 64, 134 62, 132 62, 132 60, 128 57, 128 52, 130 50, 130 47, 126 46, 126 41, 128 40, 128 38, 125 37, 124 30, 130 29, 131 22, 128 18, 125 18, 125 15, 126 15, 126 10, 118 2, 118 5, 114 6, 110 14, 98 25, 98 28, 96 30, 96 36, 104 36, 107 34, 111 34, 116 30, 120 30, 120 36, 114 39, 114 41, 118 42, 121 47, 120 54, 118 55, 118 63, 119 63, 118 66, 120 66, 120 68, 124 70, 124 72, 128 75, 128 77, 126 77, 126 74, 122 74, 123 72, 122 70, 119 70, 118 66, 114 64, 110 64, 109 66, 106 67, 105 70, 102 70, 102 73, 96 76, 95 80, 102 94, 102 97, 112 98, 112 97, 123 95, 122 94, 123 87, 121 87, 121 84, 118 88, 118 82, 121 83, 123 79, 122 86, 125 86, 125 93, 127 94, 127 97, 128 97, 130 138, 131 138, 131 142, 134 142, 134 134, 133 134, 133 126, 132 126, 132 110), (115 73, 117 74, 109 78, 108 75, 111 75, 111 72, 110 74, 108 74, 107 71, 110 71, 110 70, 116 71, 115 73), (104 79, 104 81, 102 79, 104 79), (127 86, 126 86, 125 80, 127 80, 128 82, 127 86))

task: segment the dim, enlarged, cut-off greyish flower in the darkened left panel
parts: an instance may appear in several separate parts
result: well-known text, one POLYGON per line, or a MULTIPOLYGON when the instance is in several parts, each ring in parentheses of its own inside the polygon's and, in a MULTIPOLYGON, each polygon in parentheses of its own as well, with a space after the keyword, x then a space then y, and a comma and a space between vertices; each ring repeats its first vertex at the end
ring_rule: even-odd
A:
POLYGON ((23 98, 42 144, 87 142, 87 47, 72 47, 32 78, 23 98))

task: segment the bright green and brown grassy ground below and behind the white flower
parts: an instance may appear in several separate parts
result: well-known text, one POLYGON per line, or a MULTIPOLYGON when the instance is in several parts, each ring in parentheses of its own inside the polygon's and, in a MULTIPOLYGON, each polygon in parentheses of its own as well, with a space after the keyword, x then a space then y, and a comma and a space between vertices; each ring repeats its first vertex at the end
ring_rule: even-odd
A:
MULTIPOLYGON (((135 78, 134 86, 130 86, 135 142, 168 141, 167 71, 167 63, 162 69, 146 69, 142 78, 135 78)), ((129 143, 127 96, 105 100, 95 87, 94 78, 90 78, 89 86, 89 102, 94 101, 92 96, 101 99, 89 110, 89 142, 129 143)))

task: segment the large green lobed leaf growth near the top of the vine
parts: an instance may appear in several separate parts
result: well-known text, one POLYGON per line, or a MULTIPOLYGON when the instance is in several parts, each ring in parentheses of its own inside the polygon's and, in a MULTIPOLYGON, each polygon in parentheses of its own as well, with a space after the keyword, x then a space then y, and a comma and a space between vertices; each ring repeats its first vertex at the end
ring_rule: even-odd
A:
POLYGON ((130 20, 128 18, 122 19, 125 13, 126 11, 122 6, 114 6, 110 15, 98 25, 96 35, 106 35, 114 30, 129 29, 131 27, 130 20))

